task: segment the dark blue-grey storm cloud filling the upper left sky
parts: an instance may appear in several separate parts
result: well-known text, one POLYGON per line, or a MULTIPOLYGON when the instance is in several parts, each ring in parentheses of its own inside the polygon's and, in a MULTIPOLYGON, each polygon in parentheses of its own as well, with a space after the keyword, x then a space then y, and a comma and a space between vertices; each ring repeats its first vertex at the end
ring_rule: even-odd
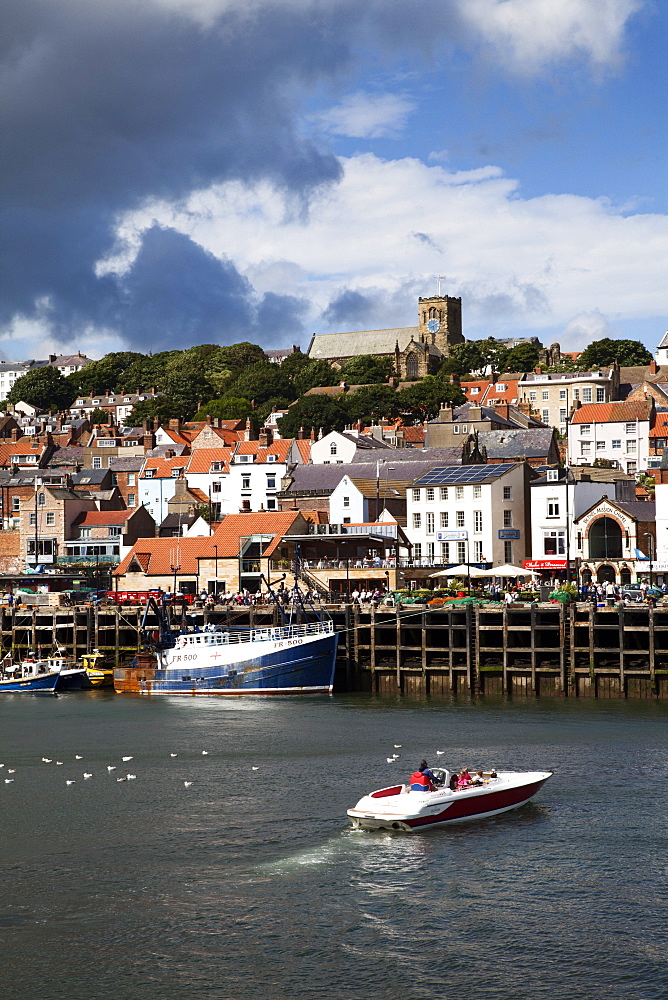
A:
MULTIPOLYGON (((96 277, 122 214, 233 178, 267 179, 298 203, 335 183, 336 158, 300 134, 300 95, 340 78, 367 29, 386 49, 418 43, 427 18, 433 28, 427 6, 274 0, 228 5, 204 27, 151 0, 6 0, 0 324, 41 315, 64 339, 92 325, 135 342, 150 314, 154 259, 171 240, 174 274, 176 245, 154 233, 135 274, 96 277)), ((182 280, 165 300, 182 335, 206 327, 215 305, 229 311, 230 329, 243 325, 252 290, 232 265, 216 271, 188 244, 182 280)), ((283 296, 262 308, 286 329, 300 315, 283 296)))

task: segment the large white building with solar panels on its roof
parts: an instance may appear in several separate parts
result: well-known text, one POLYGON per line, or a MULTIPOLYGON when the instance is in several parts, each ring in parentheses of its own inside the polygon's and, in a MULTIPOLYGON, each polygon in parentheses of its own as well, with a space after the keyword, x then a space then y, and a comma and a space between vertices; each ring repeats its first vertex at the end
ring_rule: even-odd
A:
POLYGON ((408 490, 406 534, 422 565, 521 565, 530 550, 525 518, 527 467, 446 466, 408 490))

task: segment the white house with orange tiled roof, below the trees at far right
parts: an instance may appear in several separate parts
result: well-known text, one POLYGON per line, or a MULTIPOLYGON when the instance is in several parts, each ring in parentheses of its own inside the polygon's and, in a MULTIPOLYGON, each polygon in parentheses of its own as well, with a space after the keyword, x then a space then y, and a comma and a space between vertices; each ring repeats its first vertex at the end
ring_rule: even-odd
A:
POLYGON ((624 472, 646 471, 649 435, 654 426, 654 400, 589 403, 573 412, 568 434, 569 465, 614 463, 624 472))

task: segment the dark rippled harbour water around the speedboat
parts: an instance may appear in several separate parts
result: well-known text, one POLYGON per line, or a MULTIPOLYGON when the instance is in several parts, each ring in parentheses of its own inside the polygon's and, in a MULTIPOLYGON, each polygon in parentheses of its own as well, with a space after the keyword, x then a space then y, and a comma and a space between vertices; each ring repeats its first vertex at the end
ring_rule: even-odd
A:
POLYGON ((0 994, 664 1000, 667 722, 648 702, 6 696, 0 994), (346 808, 423 755, 555 776, 491 820, 353 832, 346 808))

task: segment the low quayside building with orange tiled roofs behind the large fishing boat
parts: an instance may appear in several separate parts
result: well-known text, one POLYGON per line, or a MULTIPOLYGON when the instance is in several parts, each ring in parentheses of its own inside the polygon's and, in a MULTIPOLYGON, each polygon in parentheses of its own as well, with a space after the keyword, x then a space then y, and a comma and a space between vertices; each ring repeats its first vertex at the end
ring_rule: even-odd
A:
POLYGON ((299 511, 230 514, 208 538, 141 539, 114 577, 119 590, 255 592, 262 576, 276 580, 289 571, 284 539, 307 530, 299 511))

